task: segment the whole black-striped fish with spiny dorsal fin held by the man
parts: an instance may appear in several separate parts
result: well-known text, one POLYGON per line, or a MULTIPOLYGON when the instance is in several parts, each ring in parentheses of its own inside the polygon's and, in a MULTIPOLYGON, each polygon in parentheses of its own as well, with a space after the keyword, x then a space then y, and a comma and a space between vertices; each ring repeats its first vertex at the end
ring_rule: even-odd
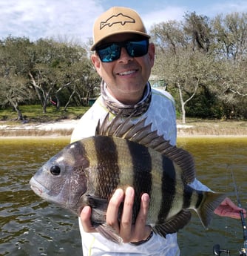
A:
MULTIPOLYGON (((106 209, 116 188, 135 188, 132 222, 140 209, 141 195, 150 196, 148 225, 166 234, 183 229, 197 212, 205 228, 214 209, 226 197, 189 186, 195 179, 194 159, 188 151, 170 145, 152 131, 146 119, 133 124, 118 115, 96 128, 95 136, 67 145, 45 163, 30 180, 33 191, 44 200, 79 215, 92 208, 92 225, 104 237, 121 243, 106 225, 106 209)), ((119 219, 121 217, 119 210, 119 219)))

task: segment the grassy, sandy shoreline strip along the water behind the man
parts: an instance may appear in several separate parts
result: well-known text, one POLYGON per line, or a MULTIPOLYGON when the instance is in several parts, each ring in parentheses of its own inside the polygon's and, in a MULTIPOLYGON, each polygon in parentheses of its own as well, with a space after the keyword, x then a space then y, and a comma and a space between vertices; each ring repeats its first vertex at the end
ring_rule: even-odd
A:
MULTIPOLYGON (((54 106, 42 113, 41 106, 21 106, 24 121, 16 121, 12 109, 0 110, 0 136, 70 136, 78 119, 89 107, 70 107, 56 111, 54 106)), ((247 136, 247 121, 177 119, 177 136, 247 136)))

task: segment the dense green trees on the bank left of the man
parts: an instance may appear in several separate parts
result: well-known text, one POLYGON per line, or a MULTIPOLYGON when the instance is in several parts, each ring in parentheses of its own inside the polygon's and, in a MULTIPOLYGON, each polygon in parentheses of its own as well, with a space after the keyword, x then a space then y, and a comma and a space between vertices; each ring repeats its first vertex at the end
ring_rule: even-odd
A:
POLYGON ((46 113, 53 99, 58 111, 61 106, 87 105, 98 95, 98 76, 87 50, 78 45, 9 36, 0 42, 0 64, 0 106, 12 106, 19 119, 23 103, 40 103, 46 113))

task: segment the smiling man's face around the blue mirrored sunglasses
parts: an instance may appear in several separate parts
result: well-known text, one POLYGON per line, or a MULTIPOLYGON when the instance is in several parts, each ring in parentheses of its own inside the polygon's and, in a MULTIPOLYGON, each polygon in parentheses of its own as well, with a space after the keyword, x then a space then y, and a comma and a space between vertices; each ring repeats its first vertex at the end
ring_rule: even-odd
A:
MULTIPOLYGON (((127 42, 135 39, 133 34, 126 33, 109 36, 103 43, 127 42)), ((148 53, 141 57, 129 56, 122 47, 120 58, 113 62, 101 62, 97 54, 93 54, 91 59, 98 74, 106 82, 109 93, 124 104, 135 104, 143 96, 154 65, 155 46, 149 44, 148 53)))

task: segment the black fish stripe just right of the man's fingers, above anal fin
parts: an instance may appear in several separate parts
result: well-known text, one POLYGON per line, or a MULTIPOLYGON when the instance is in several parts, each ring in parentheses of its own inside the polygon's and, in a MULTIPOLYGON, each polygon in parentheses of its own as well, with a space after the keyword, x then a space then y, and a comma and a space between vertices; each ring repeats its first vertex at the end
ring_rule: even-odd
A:
POLYGON ((160 204, 160 211, 158 214, 158 223, 163 223, 169 214, 170 209, 172 209, 172 203, 176 194, 176 171, 175 167, 168 157, 162 157, 163 165, 163 176, 162 176, 162 200, 160 204), (168 198, 167 194, 173 195, 168 198))

